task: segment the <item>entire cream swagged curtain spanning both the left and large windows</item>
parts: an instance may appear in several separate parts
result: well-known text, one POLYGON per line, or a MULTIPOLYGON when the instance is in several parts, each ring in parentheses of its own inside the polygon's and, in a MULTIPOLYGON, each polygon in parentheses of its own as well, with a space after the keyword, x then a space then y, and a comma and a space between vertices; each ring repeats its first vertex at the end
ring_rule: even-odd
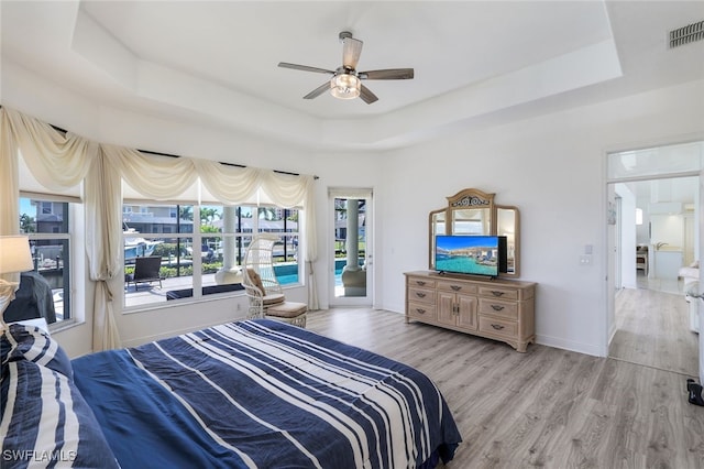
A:
MULTIPOLYGON (((238 205, 252 200, 261 188, 283 207, 304 206, 305 260, 309 292, 316 292, 312 263, 317 240, 312 197, 314 177, 280 174, 270 170, 238 167, 207 160, 145 154, 138 150, 101 144, 65 135, 51 126, 6 107, 0 109, 0 234, 19 232, 19 152, 45 187, 63 190, 81 182, 86 204, 86 250, 90 279, 97 282, 94 301, 94 350, 120 346, 109 281, 121 272, 121 179, 143 196, 166 200, 184 193, 198 178, 220 201, 238 205), (158 181, 160 184, 154 184, 158 181)), ((317 294, 309 295, 317 309, 317 294)))

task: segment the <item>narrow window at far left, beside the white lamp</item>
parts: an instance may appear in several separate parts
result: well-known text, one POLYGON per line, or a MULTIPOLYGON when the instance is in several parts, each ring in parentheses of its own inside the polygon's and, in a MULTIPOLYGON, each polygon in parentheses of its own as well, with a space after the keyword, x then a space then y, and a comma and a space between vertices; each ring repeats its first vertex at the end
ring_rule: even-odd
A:
MULTIPOLYGON (((52 288, 56 323, 72 317, 68 201, 20 197, 20 231, 30 238, 34 271, 52 288)), ((54 323, 47 318, 48 323, 54 323)))

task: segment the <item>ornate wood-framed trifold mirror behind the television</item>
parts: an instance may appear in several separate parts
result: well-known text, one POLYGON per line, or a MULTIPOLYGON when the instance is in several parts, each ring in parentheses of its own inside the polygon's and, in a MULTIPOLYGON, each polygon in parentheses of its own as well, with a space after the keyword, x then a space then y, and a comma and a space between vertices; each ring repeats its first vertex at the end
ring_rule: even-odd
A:
POLYGON ((435 270, 435 246, 438 234, 484 234, 506 238, 506 272, 499 276, 519 275, 520 216, 518 208, 494 204, 494 194, 475 188, 448 197, 448 206, 429 214, 429 259, 435 270))

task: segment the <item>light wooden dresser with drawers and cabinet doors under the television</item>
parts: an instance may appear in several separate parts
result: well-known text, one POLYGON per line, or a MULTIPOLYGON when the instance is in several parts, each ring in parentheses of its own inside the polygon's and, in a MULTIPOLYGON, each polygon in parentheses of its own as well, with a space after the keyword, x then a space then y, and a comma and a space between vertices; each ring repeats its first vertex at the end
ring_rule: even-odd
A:
POLYGON ((407 272, 406 323, 431 324, 496 339, 525 352, 536 341, 536 284, 407 272))

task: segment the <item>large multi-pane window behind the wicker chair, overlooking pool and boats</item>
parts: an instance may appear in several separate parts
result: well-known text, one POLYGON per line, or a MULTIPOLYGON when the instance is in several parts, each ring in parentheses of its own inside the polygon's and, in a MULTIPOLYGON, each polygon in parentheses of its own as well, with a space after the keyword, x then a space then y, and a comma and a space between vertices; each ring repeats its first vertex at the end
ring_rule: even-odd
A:
POLYGON ((131 207, 122 210, 128 308, 242 290, 244 251, 252 233, 260 231, 282 236, 274 251, 279 282, 299 281, 297 209, 156 203, 131 207), (138 258, 143 257, 161 258, 156 280, 148 275, 140 282, 138 264, 144 262, 138 258))

